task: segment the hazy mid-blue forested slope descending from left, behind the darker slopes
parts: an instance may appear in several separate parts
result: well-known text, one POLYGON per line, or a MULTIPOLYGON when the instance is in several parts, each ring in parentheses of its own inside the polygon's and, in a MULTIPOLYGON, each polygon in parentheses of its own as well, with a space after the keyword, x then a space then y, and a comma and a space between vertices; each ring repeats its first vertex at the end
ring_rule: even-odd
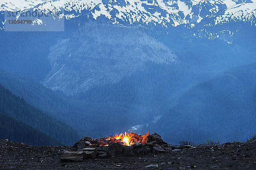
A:
MULTIPOLYGON (((30 79, 3 70, 0 70, 0 84, 13 94, 22 96, 30 105, 72 126, 82 136, 102 137, 120 133, 131 125, 143 121, 136 119, 138 116, 136 112, 126 108, 112 104, 92 103, 92 101, 77 101, 58 91, 51 91, 30 79)), ((73 133, 74 136, 77 136, 76 134, 76 132, 73 133)), ((68 136, 67 138, 72 139, 73 142, 77 140, 77 137, 68 136)))

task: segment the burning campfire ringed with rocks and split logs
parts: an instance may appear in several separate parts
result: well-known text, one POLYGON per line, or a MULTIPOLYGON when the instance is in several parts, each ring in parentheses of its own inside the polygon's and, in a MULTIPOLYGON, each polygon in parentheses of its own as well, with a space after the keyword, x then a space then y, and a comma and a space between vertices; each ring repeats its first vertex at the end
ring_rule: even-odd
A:
POLYGON ((61 161, 82 161, 86 158, 106 158, 119 155, 134 156, 148 153, 164 153, 174 150, 174 146, 168 145, 157 133, 121 133, 116 136, 108 136, 100 139, 85 137, 76 142, 70 151, 64 152, 61 161))

